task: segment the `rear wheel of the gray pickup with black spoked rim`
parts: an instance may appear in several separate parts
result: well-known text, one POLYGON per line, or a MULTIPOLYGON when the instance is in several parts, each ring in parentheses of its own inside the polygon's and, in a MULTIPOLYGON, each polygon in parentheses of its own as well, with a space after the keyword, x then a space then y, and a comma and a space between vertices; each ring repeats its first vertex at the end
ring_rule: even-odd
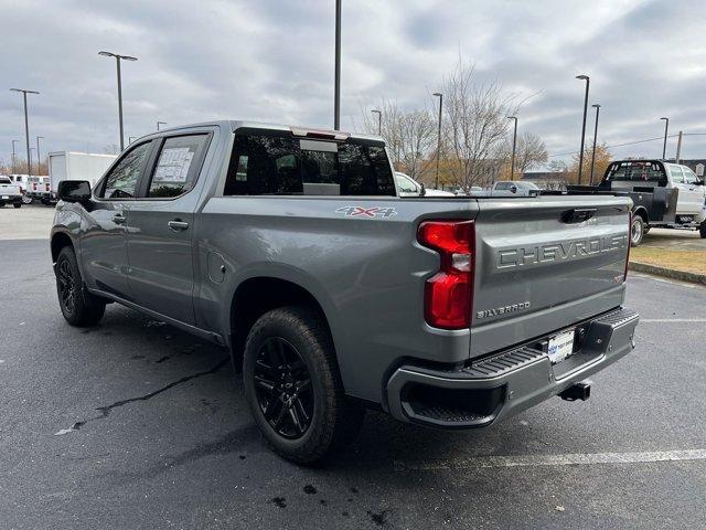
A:
POLYGON ((351 403, 328 326, 291 306, 263 315, 245 344, 245 396, 260 432, 284 458, 315 464, 354 439, 365 411, 351 403))

